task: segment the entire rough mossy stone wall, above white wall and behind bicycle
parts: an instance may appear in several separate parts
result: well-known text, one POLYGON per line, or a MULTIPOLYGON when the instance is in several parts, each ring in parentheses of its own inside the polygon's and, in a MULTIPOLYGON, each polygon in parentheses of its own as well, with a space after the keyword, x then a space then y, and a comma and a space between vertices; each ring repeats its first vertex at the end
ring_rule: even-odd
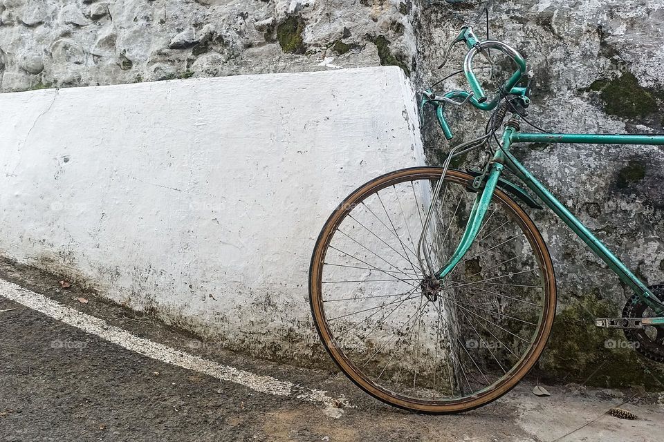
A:
MULTIPOLYGON (((555 131, 663 131, 664 1, 492 2, 490 33, 526 55, 535 75, 531 119, 555 131)), ((397 65, 419 86, 439 78, 445 46, 478 0, 1 0, 0 90, 183 77, 397 65)), ((463 50, 448 64, 460 66, 463 50)), ((466 88, 454 77, 438 90, 466 88)), ((454 142, 486 115, 451 113, 454 142)), ((431 117, 429 158, 449 144, 431 117)), ((664 281, 664 149, 533 145, 526 166, 627 265, 664 281)), ((473 159, 474 157, 471 157, 473 159)), ((463 167, 463 163, 457 164, 463 167)), ((532 213, 557 267, 558 320, 544 373, 600 385, 653 384, 652 365, 593 328, 629 296, 561 222, 532 213), (639 366, 636 372, 631 367, 639 366), (599 368, 598 368, 599 367, 599 368), (596 371, 597 370, 597 371, 596 371)))

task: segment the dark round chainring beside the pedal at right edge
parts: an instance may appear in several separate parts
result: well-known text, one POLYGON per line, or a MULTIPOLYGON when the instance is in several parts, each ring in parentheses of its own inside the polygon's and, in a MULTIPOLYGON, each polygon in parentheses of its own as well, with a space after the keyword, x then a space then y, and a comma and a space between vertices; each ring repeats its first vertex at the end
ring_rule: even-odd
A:
MULTIPOLYGON (((664 284, 648 287, 657 298, 664 302, 664 284)), ((623 308, 623 318, 647 318, 644 316, 649 307, 640 296, 634 295, 623 308)), ((625 338, 632 343, 633 348, 652 361, 664 363, 664 326, 645 327, 643 329, 623 329, 625 338)))

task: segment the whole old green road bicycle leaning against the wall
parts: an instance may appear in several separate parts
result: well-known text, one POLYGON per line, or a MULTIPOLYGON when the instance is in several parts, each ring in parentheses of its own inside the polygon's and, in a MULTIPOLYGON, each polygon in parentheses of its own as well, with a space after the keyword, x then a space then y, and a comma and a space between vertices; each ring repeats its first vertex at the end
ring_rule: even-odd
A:
POLYGON ((543 204, 634 291, 622 317, 596 325, 624 329, 643 355, 664 362, 664 285, 646 287, 510 151, 515 143, 664 145, 664 135, 522 132, 522 122, 531 124, 524 57, 463 26, 445 61, 461 42, 468 52, 457 73, 470 92, 426 90, 420 111, 434 107, 447 140, 445 106, 491 111, 484 135, 452 148, 443 167, 376 177, 331 214, 309 271, 311 311, 327 352, 362 390, 415 412, 463 412, 509 392, 542 354, 555 316, 551 256, 522 208, 543 204), (493 66, 490 50, 516 70, 489 100, 472 64, 481 54, 493 66), (488 153, 483 167, 450 169, 453 157, 478 148, 488 153))

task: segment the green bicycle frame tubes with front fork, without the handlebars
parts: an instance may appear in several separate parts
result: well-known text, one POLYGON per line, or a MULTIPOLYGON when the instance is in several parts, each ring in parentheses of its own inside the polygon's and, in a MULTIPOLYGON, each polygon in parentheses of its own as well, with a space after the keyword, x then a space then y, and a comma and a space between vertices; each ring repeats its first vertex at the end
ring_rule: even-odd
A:
POLYGON ((664 305, 652 294, 646 285, 639 280, 634 273, 632 273, 627 266, 620 261, 616 256, 607 249, 596 236, 589 231, 569 209, 558 201, 553 194, 546 189, 546 186, 539 182, 533 174, 531 174, 526 167, 521 164, 514 155, 510 152, 510 147, 514 143, 579 143, 579 144, 650 144, 650 145, 664 145, 664 135, 609 135, 609 134, 578 134, 578 133, 519 133, 514 127, 506 126, 503 133, 502 147, 499 148, 492 162, 488 177, 486 178, 486 185, 482 191, 479 191, 477 198, 473 204, 470 212, 470 218, 466 225, 465 232, 459 242, 457 249, 452 253, 452 257, 439 271, 439 279, 445 278, 454 267, 465 256, 465 253, 470 249, 472 242, 477 237, 477 233, 481 228, 484 216, 488 210, 489 203, 493 197, 493 193, 504 168, 513 172, 520 180, 522 180, 528 189, 531 189, 537 197, 548 206, 553 213, 555 213, 572 231, 583 241, 588 247, 603 260, 609 268, 616 273, 625 285, 629 286, 634 293, 638 294, 643 300, 652 307, 658 315, 664 314, 664 305))

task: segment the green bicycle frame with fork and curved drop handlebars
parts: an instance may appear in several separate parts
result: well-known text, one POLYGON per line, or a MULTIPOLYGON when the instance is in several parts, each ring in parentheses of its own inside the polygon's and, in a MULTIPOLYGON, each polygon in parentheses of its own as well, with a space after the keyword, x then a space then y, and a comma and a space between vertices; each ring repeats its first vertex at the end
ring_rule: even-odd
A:
MULTIPOLYGON (((483 54, 487 59, 490 60, 488 50, 497 49, 501 52, 504 52, 505 55, 508 55, 512 61, 517 66, 517 70, 507 79, 505 84, 501 87, 501 90, 504 93, 509 93, 510 95, 516 95, 521 97, 522 102, 527 106, 529 103, 528 98, 528 88, 517 87, 517 83, 526 74, 526 60, 522 57, 521 54, 514 48, 511 48, 507 44, 504 44, 501 41, 480 41, 476 35, 472 32, 472 27, 463 26, 457 35, 452 41, 452 44, 448 48, 448 52, 445 55, 445 61, 447 61, 450 54, 452 46, 457 43, 463 42, 468 47, 469 51, 465 56, 463 63, 463 71, 465 77, 468 80, 470 90, 472 92, 466 92, 465 90, 452 90, 451 92, 443 95, 443 100, 438 100, 432 93, 423 94, 423 99, 420 104, 421 111, 425 104, 433 104, 436 107, 436 117, 443 131, 443 135, 448 140, 451 140, 453 135, 448 125, 444 111, 445 99, 455 99, 461 98, 464 100, 467 99, 472 106, 478 108, 482 111, 490 111, 494 109, 499 103, 499 96, 497 95, 491 101, 488 101, 486 94, 481 88, 481 84, 475 77, 472 72, 472 58, 477 53, 483 54), (432 98, 433 97, 433 98, 432 98)), ((443 65, 445 64, 443 61, 443 65)), ((441 65, 441 66, 443 66, 441 65)), ((456 104, 461 104, 461 102, 456 102, 456 104)), ((518 119, 517 115, 513 113, 513 118, 518 119)), ((489 204, 493 198, 493 193, 496 189, 496 186, 499 182, 500 175, 505 168, 514 173, 520 180, 522 180, 528 189, 531 189, 537 197, 548 206, 553 213, 555 213, 568 227, 572 229, 576 235, 585 242, 588 247, 593 251, 593 253, 603 260, 609 268, 616 273, 618 278, 629 286, 634 293, 638 294, 643 298, 644 302, 654 309, 658 316, 664 316, 664 303, 658 300, 652 291, 650 291, 646 285, 639 280, 634 273, 632 273, 627 266, 620 261, 616 256, 607 249, 605 244, 603 244, 596 236, 594 236, 587 227, 582 224, 574 215, 567 209, 564 204, 558 201, 553 194, 546 189, 544 184, 537 181, 537 179, 526 169, 526 167, 521 164, 514 155, 510 152, 510 147, 514 143, 526 142, 526 143, 578 143, 578 144, 649 144, 649 145, 664 145, 664 135, 613 135, 613 134, 580 134, 580 133, 519 133, 515 128, 518 124, 506 125, 505 131, 502 137, 501 146, 495 152, 492 161, 489 163, 488 170, 486 171, 486 176, 484 177, 485 182, 483 189, 479 189, 477 193, 477 198, 475 198, 474 204, 470 211, 470 217, 468 218, 468 223, 466 224, 465 231, 457 249, 452 253, 451 258, 448 262, 443 265, 443 268, 440 271, 436 272, 436 276, 439 280, 443 280, 445 276, 448 276, 454 267, 459 265, 459 262, 463 260, 465 253, 468 252, 472 242, 477 238, 479 231, 481 230, 482 222, 488 210, 489 204)), ((449 164, 449 158, 448 163, 449 164)), ((664 318, 654 318, 656 320, 663 320, 664 318)))

